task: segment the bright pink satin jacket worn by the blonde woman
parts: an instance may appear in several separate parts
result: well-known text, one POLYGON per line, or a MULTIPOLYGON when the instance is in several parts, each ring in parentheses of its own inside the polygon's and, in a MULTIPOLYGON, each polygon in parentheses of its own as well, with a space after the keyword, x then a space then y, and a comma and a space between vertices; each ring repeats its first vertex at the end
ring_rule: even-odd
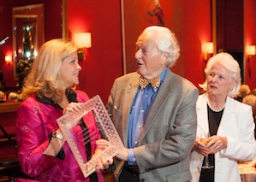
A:
MULTIPOLYGON (((83 91, 75 91, 78 102, 86 102, 89 97, 83 91)), ((75 96, 75 94, 74 94, 75 96)), ((32 179, 16 179, 16 181, 57 181, 57 182, 89 182, 84 178, 80 167, 74 159, 67 142, 63 145, 63 160, 43 154, 49 144, 49 135, 58 129, 57 118, 63 115, 63 109, 56 104, 42 103, 32 95, 21 103, 16 121, 16 137, 18 145, 18 159, 23 173, 35 177, 32 179)), ((96 150, 95 141, 100 138, 98 126, 92 113, 84 118, 90 131, 92 154, 96 150), (93 136, 91 136, 93 133, 93 136)), ((86 157, 83 136, 80 126, 74 130, 80 133, 81 149, 86 157)), ((98 173, 98 181, 104 181, 102 173, 98 173)))

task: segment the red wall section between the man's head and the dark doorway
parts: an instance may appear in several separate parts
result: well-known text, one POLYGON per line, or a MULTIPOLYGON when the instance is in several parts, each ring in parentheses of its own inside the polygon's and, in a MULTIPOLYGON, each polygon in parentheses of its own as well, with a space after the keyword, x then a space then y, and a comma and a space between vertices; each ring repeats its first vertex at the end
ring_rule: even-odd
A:
POLYGON ((201 44, 212 41, 211 0, 183 0, 181 4, 182 7, 179 9, 182 11, 182 20, 176 23, 176 26, 179 26, 181 58, 175 71, 198 86, 204 81, 205 69, 201 44))

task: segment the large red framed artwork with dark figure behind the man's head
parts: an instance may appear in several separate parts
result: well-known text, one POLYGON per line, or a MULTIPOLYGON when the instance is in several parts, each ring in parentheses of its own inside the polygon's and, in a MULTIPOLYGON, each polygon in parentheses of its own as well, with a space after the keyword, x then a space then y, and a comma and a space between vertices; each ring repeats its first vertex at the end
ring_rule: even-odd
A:
POLYGON ((174 7, 170 0, 121 0, 123 73, 136 71, 135 43, 146 26, 170 28, 174 7), (167 20, 167 21, 166 21, 167 20))

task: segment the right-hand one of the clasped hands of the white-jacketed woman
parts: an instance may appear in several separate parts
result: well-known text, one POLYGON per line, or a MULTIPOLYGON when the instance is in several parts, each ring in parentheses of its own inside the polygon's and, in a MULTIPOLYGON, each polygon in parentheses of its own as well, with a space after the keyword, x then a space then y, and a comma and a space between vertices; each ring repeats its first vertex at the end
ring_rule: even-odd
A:
POLYGON ((209 154, 215 154, 218 151, 227 148, 228 139, 226 137, 213 135, 210 139, 211 141, 206 145, 206 147, 208 147, 209 154))

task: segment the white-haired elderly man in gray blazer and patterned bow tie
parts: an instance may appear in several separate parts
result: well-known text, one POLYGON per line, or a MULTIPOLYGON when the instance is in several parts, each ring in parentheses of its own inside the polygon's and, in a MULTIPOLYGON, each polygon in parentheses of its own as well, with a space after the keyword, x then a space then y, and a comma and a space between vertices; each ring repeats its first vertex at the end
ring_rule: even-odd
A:
POLYGON ((168 28, 147 27, 136 46, 137 72, 115 80, 106 105, 127 147, 116 156, 115 179, 189 181, 198 90, 169 69, 180 48, 168 28))

